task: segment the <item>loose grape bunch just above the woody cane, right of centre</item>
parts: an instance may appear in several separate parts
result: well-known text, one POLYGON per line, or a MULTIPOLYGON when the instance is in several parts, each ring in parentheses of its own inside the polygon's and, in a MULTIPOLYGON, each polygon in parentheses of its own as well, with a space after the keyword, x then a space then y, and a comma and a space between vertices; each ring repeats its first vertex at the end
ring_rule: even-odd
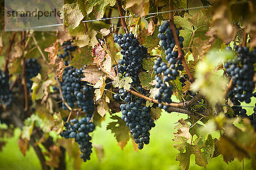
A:
POLYGON ((170 80, 176 79, 179 75, 179 72, 175 69, 169 69, 165 62, 162 62, 162 58, 158 57, 154 63, 154 71, 155 71, 155 79, 157 84, 155 85, 156 88, 159 88, 159 93, 155 95, 155 99, 159 102, 158 107, 160 109, 164 109, 167 111, 168 106, 163 105, 162 102, 171 103, 172 102, 172 88, 173 86, 170 85, 168 82, 170 80), (161 78, 163 74, 163 79, 161 78))

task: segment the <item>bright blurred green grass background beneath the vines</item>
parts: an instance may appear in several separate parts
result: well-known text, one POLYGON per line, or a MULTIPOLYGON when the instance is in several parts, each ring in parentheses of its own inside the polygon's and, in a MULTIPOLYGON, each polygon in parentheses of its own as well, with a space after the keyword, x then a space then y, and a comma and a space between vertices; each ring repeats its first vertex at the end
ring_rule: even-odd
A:
MULTIPOLYGON (((250 105, 256 102, 255 99, 250 105)), ((247 113, 253 113, 253 108, 246 108, 247 113)), ((118 115, 120 113, 117 113, 118 115)), ((162 116, 157 120, 156 126, 150 132, 150 143, 145 145, 143 150, 134 151, 131 140, 124 150, 117 145, 114 134, 106 130, 108 122, 112 122, 110 115, 106 114, 102 127, 96 127, 91 134, 93 144, 101 144, 104 148, 105 157, 98 161, 95 150, 91 154, 91 160, 82 163, 82 170, 180 170, 179 162, 175 161, 178 151, 172 146, 172 141, 176 130, 175 123, 179 119, 186 119, 187 116, 178 113, 162 112, 162 116)), ((41 170, 38 158, 32 147, 29 147, 27 155, 23 156, 17 145, 20 130, 15 130, 15 135, 8 140, 3 151, 0 152, 0 170, 41 170)), ((219 137, 219 133, 213 133, 214 137, 219 137)), ((195 156, 191 156, 190 170, 203 170, 195 164, 195 156)), ((73 170, 73 159, 66 156, 67 170, 73 170)), ((207 170, 242 170, 242 162, 234 160, 229 165, 223 161, 222 156, 213 158, 207 165, 207 170)), ((244 159, 244 170, 252 169, 249 159, 244 159)))

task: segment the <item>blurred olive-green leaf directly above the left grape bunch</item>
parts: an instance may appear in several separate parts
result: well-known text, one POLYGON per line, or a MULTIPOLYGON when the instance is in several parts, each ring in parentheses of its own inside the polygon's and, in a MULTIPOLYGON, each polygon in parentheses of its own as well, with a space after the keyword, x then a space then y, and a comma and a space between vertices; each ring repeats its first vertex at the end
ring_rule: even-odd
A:
POLYGON ((84 65, 91 64, 93 62, 93 57, 91 54, 91 49, 88 46, 79 48, 74 52, 74 57, 70 62, 75 68, 83 68, 84 65))

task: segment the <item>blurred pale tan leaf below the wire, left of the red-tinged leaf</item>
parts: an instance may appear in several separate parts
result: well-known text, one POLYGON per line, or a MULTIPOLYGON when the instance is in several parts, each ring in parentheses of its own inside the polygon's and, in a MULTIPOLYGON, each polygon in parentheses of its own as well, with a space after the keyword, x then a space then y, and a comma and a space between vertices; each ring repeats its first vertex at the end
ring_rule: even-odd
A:
POLYGON ((76 40, 73 40, 73 44, 79 46, 79 48, 82 48, 86 45, 89 47, 93 47, 93 45, 98 43, 98 40, 96 38, 97 31, 87 31, 87 34, 81 34, 77 37, 76 40))

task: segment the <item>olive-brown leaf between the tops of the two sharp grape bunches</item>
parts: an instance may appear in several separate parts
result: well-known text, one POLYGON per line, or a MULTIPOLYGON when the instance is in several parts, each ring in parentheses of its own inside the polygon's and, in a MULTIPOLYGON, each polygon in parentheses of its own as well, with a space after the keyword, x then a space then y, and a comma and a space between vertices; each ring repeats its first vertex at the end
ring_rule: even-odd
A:
POLYGON ((154 34, 152 36, 146 37, 145 43, 143 44, 148 48, 148 53, 151 53, 152 49, 159 46, 160 39, 157 37, 159 31, 159 26, 155 26, 154 34))

